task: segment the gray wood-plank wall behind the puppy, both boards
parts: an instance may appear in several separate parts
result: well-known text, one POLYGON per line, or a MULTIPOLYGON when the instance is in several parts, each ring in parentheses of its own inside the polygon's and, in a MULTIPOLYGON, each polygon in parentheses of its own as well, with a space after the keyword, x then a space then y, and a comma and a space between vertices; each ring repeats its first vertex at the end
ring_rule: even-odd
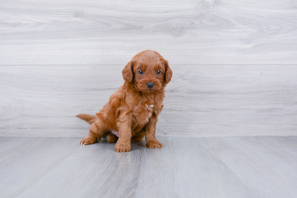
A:
POLYGON ((147 49, 174 73, 157 136, 297 135, 297 1, 3 0, 0 136, 87 135, 147 49))

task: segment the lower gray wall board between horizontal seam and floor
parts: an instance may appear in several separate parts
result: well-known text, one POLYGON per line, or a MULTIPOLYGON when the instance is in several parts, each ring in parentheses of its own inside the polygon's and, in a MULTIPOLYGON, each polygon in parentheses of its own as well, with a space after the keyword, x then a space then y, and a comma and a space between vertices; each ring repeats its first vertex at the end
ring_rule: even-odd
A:
MULTIPOLYGON (((123 66, 0 66, 0 136, 84 137, 123 66)), ((158 137, 297 135, 296 65, 173 65, 158 137)))

